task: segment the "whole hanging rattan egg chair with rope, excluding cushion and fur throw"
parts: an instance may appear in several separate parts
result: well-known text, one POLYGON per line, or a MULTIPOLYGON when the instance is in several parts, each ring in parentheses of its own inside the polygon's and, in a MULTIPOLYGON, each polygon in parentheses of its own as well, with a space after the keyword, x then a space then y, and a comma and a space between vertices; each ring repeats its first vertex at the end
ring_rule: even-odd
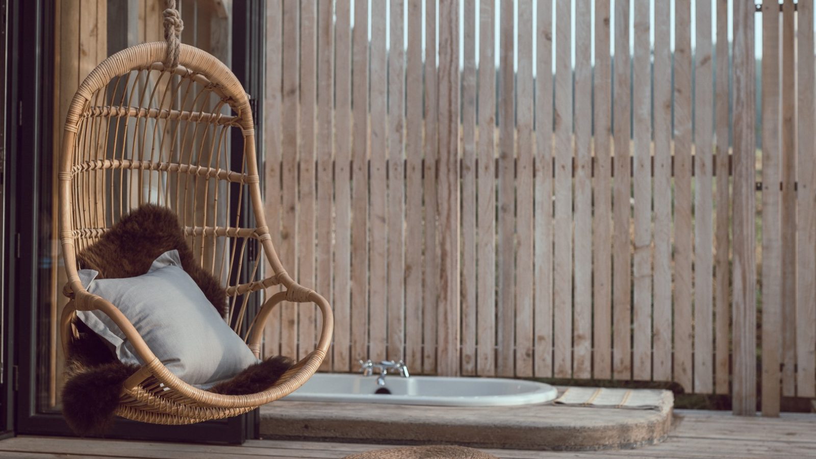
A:
POLYGON ((214 56, 178 42, 174 14, 178 21, 175 9, 165 11, 168 42, 144 43, 110 56, 82 82, 69 107, 59 189, 60 240, 68 275, 64 292, 70 301, 60 329, 67 351, 70 340, 78 339, 72 326, 76 310, 107 314, 146 362, 125 381, 116 413, 178 425, 233 417, 290 394, 322 363, 333 322, 326 299, 295 283, 273 247, 246 92, 214 56), (241 130, 242 151, 229 148, 233 129, 241 130), (240 157, 243 160, 237 161, 240 157), (247 199, 255 218, 250 228, 240 227, 240 215, 235 215, 247 199), (215 394, 175 377, 116 305, 87 292, 78 278, 77 252, 143 203, 175 211, 197 261, 223 281, 237 331, 246 325, 243 316, 252 295, 282 287, 265 298, 255 319, 246 319, 245 341, 256 357, 264 325, 282 301, 318 306, 322 328, 316 348, 273 387, 256 394, 215 394), (262 275, 264 266, 271 272, 262 275))

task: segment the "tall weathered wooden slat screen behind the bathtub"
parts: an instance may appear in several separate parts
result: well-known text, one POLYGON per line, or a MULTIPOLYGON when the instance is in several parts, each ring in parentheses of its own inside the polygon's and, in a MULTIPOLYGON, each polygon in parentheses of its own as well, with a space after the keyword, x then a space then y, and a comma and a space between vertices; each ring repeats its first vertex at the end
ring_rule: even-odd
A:
MULTIPOLYGON (((675 381, 750 413, 759 343, 766 414, 814 396, 812 2, 592 5, 270 4, 267 203, 334 305, 323 370, 675 381)), ((313 345, 313 310, 274 320, 267 354, 313 345)))

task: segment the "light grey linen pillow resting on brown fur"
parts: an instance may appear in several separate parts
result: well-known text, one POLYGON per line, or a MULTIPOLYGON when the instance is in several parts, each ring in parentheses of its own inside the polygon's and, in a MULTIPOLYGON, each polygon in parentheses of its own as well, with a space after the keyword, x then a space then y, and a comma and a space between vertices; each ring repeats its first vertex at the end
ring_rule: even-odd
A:
MULTIPOLYGON (((147 274, 134 278, 95 279, 95 270, 78 274, 88 292, 117 306, 153 354, 190 385, 207 389, 259 362, 184 272, 178 251, 164 252, 147 274)), ((144 364, 106 314, 77 311, 77 316, 113 345, 122 363, 144 364)))

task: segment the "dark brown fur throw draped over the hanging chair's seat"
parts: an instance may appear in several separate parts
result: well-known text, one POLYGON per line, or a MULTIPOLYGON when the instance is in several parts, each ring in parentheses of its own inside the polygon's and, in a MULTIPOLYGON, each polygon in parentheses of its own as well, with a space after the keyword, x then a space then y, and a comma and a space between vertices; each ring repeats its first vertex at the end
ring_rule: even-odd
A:
MULTIPOLYGON (((193 259, 184 232, 171 210, 152 204, 122 216, 98 242, 77 254, 80 269, 99 271, 96 279, 121 279, 148 272, 157 256, 178 250, 182 267, 202 289, 219 314, 224 315, 226 292, 193 259)), ((112 346, 79 319, 73 324, 79 338, 69 344, 62 412, 77 434, 104 434, 113 424, 122 383, 138 367, 120 362, 112 346)), ((218 394, 254 394, 266 390, 292 365, 276 356, 256 363, 229 381, 211 388, 218 394)))

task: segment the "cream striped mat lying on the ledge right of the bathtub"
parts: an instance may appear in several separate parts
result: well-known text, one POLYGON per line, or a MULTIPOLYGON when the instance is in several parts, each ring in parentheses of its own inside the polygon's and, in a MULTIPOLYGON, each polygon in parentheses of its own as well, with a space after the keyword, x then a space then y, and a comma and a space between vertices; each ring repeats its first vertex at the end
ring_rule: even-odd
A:
POLYGON ((605 387, 570 387, 556 399, 559 405, 592 408, 663 408, 666 403, 664 390, 610 389, 605 387))

